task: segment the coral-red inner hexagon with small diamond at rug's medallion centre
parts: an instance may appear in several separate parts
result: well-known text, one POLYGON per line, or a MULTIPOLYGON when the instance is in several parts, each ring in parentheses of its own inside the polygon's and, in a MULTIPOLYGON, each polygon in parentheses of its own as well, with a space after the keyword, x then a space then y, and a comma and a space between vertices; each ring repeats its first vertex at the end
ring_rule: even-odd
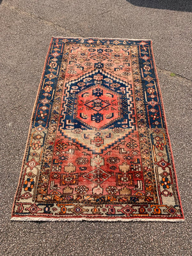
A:
POLYGON ((75 118, 96 130, 120 118, 118 93, 97 84, 77 95, 75 118))

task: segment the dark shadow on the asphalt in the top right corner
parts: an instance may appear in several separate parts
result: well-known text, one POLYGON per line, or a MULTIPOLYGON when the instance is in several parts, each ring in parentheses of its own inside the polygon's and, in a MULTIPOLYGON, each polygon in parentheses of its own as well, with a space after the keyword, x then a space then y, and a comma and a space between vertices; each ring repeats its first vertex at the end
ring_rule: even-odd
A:
POLYGON ((180 12, 192 12, 192 1, 191 0, 126 0, 127 2, 147 8, 163 9, 163 10, 174 10, 180 12))

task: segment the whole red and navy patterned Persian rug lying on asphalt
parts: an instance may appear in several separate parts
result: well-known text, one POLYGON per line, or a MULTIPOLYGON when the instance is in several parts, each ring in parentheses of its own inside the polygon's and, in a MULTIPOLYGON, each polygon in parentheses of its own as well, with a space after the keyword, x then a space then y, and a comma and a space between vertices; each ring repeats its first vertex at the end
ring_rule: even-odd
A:
POLYGON ((184 220, 150 40, 52 38, 12 220, 184 220))

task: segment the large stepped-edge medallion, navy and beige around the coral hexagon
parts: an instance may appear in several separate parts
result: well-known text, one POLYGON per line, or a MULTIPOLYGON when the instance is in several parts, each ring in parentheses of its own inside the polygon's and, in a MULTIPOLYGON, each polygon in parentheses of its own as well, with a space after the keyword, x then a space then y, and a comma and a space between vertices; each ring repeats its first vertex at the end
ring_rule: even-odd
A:
POLYGON ((94 70, 65 85, 59 131, 100 154, 136 129, 132 85, 94 70))

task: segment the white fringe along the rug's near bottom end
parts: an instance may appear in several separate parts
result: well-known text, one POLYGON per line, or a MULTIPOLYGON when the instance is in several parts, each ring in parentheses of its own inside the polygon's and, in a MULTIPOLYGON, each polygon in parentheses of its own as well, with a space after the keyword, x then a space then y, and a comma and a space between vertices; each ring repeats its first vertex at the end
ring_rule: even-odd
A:
POLYGON ((144 219, 144 218, 127 218, 127 219, 102 219, 102 218, 42 218, 42 217, 12 217, 11 221, 108 221, 108 222, 116 222, 116 221, 164 221, 164 222, 184 222, 184 219, 144 219))

